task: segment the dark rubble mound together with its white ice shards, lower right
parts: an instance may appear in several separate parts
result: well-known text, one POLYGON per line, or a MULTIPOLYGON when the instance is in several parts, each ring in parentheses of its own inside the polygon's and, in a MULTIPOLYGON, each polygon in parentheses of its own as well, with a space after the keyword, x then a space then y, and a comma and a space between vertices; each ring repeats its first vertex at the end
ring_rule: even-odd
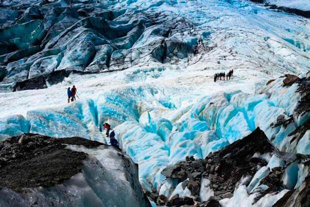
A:
MULTIPOLYGON (((166 167, 162 174, 170 181, 181 183, 184 193, 189 190, 189 195, 195 202, 200 202, 200 206, 238 203, 240 201, 234 199, 241 196, 238 193, 244 187, 253 196, 251 203, 257 203, 257 206, 264 206, 261 204, 264 199, 284 189, 287 189, 283 191, 287 195, 281 198, 285 194, 282 193, 277 199, 281 198, 279 203, 286 204, 275 206, 291 206, 291 203, 301 206, 301 200, 308 200, 305 194, 309 187, 306 177, 309 174, 309 160, 307 155, 278 151, 264 132, 256 128, 248 136, 209 154, 205 159, 189 157, 186 161, 166 167), (297 189, 294 190, 294 187, 297 189)), ((175 190, 179 192, 178 187, 175 190)), ((159 193, 159 196, 162 195, 159 193)), ((175 199, 172 196, 165 204, 175 202, 175 199)), ((273 203, 277 200, 274 199, 273 203)))

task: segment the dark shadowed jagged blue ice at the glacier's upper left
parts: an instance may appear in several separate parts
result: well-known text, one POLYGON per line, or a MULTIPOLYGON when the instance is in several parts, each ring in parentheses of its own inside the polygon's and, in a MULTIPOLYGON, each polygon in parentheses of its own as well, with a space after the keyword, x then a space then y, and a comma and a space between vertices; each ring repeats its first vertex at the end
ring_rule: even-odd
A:
POLYGON ((149 60, 176 61, 192 53, 195 42, 169 38, 192 28, 189 22, 170 11, 159 15, 146 8, 113 9, 114 4, 4 0, 0 12, 14 18, 1 18, 5 22, 0 28, 1 84, 14 90, 38 89, 55 83, 50 74, 60 70, 98 73, 149 60))

